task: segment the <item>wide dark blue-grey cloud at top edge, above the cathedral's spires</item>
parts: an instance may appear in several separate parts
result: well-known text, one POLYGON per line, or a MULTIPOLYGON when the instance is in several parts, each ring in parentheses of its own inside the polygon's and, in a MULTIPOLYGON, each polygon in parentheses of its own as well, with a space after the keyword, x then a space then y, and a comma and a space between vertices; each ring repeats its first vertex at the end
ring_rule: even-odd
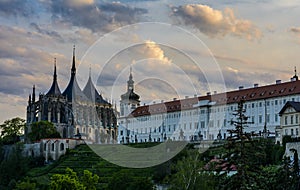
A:
POLYGON ((141 15, 147 13, 146 9, 134 8, 120 2, 98 4, 92 0, 52 0, 50 11, 57 23, 70 23, 93 32, 109 32, 136 23, 141 15))

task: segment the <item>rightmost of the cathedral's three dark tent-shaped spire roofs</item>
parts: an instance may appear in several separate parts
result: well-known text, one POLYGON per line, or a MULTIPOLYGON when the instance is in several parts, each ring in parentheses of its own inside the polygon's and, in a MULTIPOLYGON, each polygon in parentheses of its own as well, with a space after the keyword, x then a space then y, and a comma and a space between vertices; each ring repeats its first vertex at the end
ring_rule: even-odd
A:
POLYGON ((89 79, 83 89, 83 93, 92 102, 109 105, 109 103, 103 99, 103 97, 98 93, 97 89, 95 88, 91 77, 91 68, 89 73, 89 79))

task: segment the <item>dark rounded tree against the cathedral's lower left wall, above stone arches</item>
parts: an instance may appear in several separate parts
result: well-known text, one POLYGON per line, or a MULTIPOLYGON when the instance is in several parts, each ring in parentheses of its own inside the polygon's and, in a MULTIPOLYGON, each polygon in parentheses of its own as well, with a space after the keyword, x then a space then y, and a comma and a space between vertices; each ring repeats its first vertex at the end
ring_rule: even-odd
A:
POLYGON ((60 134, 56 131, 53 123, 39 121, 31 124, 31 132, 28 137, 33 142, 43 138, 60 138, 60 134))

